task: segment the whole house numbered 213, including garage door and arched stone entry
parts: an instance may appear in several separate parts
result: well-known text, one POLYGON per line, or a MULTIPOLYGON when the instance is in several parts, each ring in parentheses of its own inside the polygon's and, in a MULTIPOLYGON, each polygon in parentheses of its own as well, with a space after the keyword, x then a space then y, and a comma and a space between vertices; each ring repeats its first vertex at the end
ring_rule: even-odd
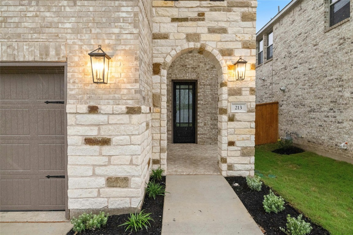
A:
POLYGON ((195 142, 218 146, 223 176, 253 175, 256 6, 1 1, 1 210, 135 211, 151 168, 168 173, 180 79, 197 81, 195 142), (111 57, 108 84, 92 82, 98 45, 111 57))

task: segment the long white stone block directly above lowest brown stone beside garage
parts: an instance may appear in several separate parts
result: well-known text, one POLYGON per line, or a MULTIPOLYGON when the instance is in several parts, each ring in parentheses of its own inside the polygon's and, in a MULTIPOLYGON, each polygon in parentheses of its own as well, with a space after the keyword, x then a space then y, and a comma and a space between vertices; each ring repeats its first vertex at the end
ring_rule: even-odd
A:
POLYGON ((141 174, 140 166, 107 166, 96 167, 96 175, 109 175, 109 176, 139 176, 141 174))

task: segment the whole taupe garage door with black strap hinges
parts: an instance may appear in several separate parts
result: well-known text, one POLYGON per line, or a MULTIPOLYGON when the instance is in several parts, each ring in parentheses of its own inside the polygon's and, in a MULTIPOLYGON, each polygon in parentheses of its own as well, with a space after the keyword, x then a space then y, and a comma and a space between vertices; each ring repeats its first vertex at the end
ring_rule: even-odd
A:
POLYGON ((65 210, 64 68, 0 73, 1 210, 65 210))

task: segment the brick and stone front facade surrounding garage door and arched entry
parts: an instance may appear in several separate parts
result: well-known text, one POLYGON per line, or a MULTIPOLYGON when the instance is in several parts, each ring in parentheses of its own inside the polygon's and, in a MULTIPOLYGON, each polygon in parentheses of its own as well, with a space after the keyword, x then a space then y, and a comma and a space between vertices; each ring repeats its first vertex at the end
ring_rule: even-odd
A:
POLYGON ((217 135, 212 141, 218 142, 222 174, 253 175, 254 156, 243 153, 254 146, 254 113, 229 116, 230 102, 246 102, 250 111, 255 107, 249 91, 255 87, 256 5, 1 1, 2 62, 67 62, 71 216, 88 210, 134 211, 152 165, 166 168, 168 68, 189 52, 206 57, 215 74, 217 124, 209 125, 217 135), (108 84, 92 83, 88 53, 98 45, 112 57, 108 84), (244 81, 228 76, 227 66, 239 56, 248 61, 244 81), (237 93, 228 94, 232 89, 237 93))

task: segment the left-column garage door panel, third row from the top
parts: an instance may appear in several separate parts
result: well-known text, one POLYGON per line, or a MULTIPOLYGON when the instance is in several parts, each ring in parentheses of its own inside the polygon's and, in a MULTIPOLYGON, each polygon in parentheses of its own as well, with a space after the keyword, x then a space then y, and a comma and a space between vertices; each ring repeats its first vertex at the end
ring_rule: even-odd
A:
POLYGON ((1 171, 30 171, 29 153, 30 144, 0 144, 1 171))

